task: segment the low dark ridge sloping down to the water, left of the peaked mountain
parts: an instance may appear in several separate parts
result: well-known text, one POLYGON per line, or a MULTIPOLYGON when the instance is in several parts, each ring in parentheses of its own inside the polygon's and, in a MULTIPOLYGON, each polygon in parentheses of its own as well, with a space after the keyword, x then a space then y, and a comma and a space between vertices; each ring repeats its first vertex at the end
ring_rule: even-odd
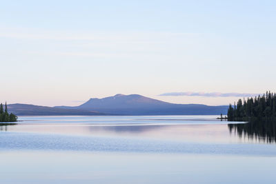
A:
POLYGON ((92 112, 89 110, 75 110, 64 108, 50 108, 39 105, 28 105, 14 103, 8 105, 8 111, 18 116, 43 116, 43 115, 103 115, 103 113, 92 112))

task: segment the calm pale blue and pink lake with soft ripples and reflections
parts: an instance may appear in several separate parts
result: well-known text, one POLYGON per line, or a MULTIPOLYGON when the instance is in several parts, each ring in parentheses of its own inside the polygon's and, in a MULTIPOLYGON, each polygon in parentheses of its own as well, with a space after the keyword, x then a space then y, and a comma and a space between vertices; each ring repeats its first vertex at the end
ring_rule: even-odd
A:
POLYGON ((216 117, 19 116, 1 183, 274 183, 275 127, 216 117))

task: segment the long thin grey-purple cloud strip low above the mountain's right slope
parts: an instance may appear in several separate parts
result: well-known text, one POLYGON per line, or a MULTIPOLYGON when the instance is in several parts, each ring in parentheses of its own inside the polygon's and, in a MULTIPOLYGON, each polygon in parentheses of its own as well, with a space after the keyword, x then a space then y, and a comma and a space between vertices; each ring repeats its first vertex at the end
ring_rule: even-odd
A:
POLYGON ((205 97, 248 97, 257 96, 259 94, 253 93, 239 93, 239 92, 166 92, 159 94, 159 96, 205 96, 205 97))

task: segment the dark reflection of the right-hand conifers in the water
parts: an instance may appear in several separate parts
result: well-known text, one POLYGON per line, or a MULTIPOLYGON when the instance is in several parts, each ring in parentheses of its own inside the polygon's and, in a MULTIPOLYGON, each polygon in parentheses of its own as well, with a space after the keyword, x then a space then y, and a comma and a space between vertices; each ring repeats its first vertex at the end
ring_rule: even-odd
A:
POLYGON ((276 143, 276 121, 253 121, 228 124, 230 134, 262 143, 276 143))

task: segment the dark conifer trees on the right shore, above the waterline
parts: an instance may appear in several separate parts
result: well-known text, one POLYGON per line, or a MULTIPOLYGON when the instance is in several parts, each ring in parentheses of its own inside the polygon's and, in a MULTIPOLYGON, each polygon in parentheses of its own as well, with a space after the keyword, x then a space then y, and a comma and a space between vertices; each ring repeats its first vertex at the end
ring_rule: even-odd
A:
POLYGON ((228 121, 276 120, 276 94, 266 92, 263 96, 239 99, 234 107, 230 104, 228 121))

